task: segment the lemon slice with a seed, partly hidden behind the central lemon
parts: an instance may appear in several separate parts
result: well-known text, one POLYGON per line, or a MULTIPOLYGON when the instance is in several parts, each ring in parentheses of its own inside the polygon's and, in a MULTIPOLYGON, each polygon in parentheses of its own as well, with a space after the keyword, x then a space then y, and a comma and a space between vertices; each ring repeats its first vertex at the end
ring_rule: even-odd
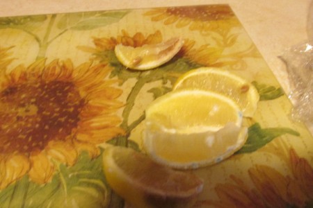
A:
POLYGON ((193 69, 180 76, 173 89, 204 89, 232 98, 243 111, 243 116, 252 117, 257 109, 259 93, 247 80, 229 71, 214 67, 193 69))

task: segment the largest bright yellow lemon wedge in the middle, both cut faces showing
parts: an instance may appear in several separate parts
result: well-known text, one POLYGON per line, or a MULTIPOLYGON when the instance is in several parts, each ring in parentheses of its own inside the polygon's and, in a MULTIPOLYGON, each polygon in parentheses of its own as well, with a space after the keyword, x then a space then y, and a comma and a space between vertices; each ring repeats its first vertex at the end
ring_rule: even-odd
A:
POLYGON ((145 116, 143 148, 157 162, 174 168, 220 162, 246 141, 239 106, 215 92, 169 92, 153 101, 145 116))

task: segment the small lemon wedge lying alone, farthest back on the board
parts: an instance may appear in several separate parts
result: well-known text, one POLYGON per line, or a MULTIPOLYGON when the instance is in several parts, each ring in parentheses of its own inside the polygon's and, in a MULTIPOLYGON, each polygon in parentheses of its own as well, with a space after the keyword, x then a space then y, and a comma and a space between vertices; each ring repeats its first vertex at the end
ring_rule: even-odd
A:
POLYGON ((153 69, 168 62, 182 48, 182 38, 172 38, 159 44, 145 44, 141 47, 115 46, 115 55, 118 60, 129 69, 153 69))

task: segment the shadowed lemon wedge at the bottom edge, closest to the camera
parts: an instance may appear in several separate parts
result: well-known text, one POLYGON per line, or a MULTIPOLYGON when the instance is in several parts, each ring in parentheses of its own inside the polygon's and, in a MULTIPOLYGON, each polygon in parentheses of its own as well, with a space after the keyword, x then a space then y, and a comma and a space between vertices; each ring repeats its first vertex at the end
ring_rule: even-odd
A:
POLYGON ((130 148, 106 148, 103 166, 110 187, 134 207, 186 207, 203 187, 193 173, 175 171, 130 148))

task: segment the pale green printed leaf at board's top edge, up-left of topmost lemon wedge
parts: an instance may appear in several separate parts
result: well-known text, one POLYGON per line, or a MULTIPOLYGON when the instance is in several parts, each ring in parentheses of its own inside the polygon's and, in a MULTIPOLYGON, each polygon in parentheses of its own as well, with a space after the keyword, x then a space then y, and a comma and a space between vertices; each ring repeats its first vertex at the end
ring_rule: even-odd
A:
POLYGON ((127 11, 67 13, 58 21, 61 30, 85 31, 118 22, 127 11))

